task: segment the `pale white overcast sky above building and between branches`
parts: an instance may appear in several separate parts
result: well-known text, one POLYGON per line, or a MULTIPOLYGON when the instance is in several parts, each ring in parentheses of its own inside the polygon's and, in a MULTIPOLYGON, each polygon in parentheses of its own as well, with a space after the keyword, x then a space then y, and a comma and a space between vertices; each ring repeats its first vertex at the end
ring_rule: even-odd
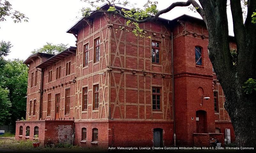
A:
MULTIPOLYGON (((34 49, 42 47, 46 42, 53 44, 68 44, 75 46, 73 34, 66 33, 74 25, 81 14, 82 7, 90 7, 80 0, 8 0, 13 10, 24 13, 29 22, 14 23, 11 18, 0 22, 0 41, 11 41, 13 47, 6 59, 19 58, 25 60, 34 49)), ((136 7, 142 7, 147 0, 130 0, 137 3, 136 7)), ((164 9, 178 0, 158 0, 158 9, 164 9)), ((186 0, 180 0, 186 1, 186 0)), ((3 1, 2 1, 3 2, 3 1)), ((102 3, 103 4, 103 3, 102 3)), ((188 14, 201 18, 198 13, 189 10, 188 7, 177 7, 172 11, 161 15, 162 18, 173 19, 182 14, 188 14)), ((230 11, 228 11, 231 21, 230 11)), ((232 21, 229 23, 229 34, 233 35, 232 21)))

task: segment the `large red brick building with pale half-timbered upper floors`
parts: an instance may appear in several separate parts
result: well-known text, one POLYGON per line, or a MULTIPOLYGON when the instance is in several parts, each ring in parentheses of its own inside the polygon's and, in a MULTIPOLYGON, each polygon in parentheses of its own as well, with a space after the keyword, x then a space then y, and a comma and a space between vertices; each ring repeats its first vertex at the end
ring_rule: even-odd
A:
POLYGON ((209 145, 223 144, 230 128, 235 141, 204 22, 183 15, 140 26, 145 37, 117 15, 93 12, 67 31, 76 47, 30 55, 26 121, 16 122, 16 139, 170 146, 175 133, 177 145, 209 145))

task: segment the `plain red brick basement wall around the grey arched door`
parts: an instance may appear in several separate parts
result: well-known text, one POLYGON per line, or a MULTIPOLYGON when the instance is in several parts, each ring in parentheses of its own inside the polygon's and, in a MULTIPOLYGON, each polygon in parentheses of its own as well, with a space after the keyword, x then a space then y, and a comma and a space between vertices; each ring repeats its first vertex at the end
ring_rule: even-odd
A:
POLYGON ((163 129, 164 146, 173 144, 173 122, 110 121, 109 146, 152 147, 154 128, 163 129))

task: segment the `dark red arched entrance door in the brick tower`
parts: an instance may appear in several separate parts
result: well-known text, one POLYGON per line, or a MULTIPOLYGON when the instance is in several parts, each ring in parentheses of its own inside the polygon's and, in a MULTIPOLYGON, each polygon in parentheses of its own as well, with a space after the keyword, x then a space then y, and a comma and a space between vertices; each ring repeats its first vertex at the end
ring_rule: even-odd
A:
POLYGON ((206 111, 199 110, 196 112, 197 133, 207 133, 206 111))

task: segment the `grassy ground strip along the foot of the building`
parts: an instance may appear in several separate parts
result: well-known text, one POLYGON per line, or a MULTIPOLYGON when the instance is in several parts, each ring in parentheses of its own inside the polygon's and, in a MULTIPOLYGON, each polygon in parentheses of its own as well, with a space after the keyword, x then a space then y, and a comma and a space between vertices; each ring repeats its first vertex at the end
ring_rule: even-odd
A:
MULTIPOLYGON (((56 145, 51 145, 47 147, 43 147, 40 145, 38 148, 33 148, 32 145, 33 141, 27 140, 15 140, 14 138, 9 138, 5 140, 0 140, 0 152, 42 152, 42 153, 50 153, 50 152, 107 152, 108 150, 100 150, 99 148, 82 148, 80 146, 72 146, 68 143, 58 143, 56 145)), ((109 152, 109 151, 108 151, 109 152)), ((143 152, 150 152, 150 153, 237 153, 237 150, 113 150, 113 153, 117 152, 124 152, 124 153, 143 153, 143 152)))

